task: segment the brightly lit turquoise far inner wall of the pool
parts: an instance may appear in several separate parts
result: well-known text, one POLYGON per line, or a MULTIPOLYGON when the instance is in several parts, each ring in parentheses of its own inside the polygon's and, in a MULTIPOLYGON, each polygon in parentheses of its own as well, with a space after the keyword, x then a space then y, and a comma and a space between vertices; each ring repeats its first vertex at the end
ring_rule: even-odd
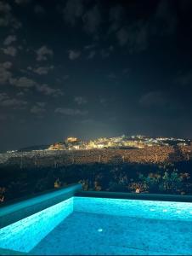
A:
POLYGON ((189 202, 125 200, 81 196, 75 196, 73 202, 74 212, 192 222, 192 204, 189 202))

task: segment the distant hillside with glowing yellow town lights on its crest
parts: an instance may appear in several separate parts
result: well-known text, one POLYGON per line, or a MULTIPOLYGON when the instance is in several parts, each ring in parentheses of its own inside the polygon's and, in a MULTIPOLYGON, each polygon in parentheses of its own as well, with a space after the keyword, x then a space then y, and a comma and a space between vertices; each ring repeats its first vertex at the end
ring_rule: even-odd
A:
POLYGON ((166 137, 121 136, 81 141, 68 137, 39 150, 8 151, 0 154, 5 166, 47 167, 92 163, 167 163, 192 158, 190 140, 166 137))

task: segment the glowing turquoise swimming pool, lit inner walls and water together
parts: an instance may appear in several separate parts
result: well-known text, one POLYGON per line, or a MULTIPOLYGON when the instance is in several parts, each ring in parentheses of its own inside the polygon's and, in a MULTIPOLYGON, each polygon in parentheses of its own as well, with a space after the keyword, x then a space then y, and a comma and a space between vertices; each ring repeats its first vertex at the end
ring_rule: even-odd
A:
POLYGON ((192 254, 192 204, 73 197, 0 230, 0 247, 50 254, 192 254))

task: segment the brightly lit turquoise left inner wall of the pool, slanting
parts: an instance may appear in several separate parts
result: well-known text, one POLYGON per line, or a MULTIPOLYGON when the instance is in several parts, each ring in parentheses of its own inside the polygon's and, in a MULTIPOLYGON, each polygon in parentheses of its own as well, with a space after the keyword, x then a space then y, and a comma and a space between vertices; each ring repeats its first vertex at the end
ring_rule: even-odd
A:
POLYGON ((73 212, 73 197, 0 229, 0 247, 29 253, 73 212))

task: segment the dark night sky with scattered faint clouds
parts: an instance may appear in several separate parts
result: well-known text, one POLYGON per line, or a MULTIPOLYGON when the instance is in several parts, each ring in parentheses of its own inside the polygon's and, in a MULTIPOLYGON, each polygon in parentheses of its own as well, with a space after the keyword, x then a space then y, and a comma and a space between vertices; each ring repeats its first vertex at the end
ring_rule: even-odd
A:
POLYGON ((192 1, 0 0, 0 150, 192 137, 192 1))

